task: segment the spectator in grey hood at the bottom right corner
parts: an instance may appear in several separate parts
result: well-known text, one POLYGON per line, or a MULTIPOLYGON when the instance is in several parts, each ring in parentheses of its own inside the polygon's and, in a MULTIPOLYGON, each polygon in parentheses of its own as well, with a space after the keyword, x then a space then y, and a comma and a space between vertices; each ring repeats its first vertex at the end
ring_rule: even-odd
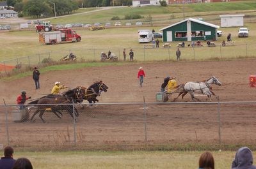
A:
POLYGON ((253 156, 252 151, 248 147, 241 147, 236 152, 234 161, 232 162, 231 168, 236 169, 256 169, 253 166, 253 156))

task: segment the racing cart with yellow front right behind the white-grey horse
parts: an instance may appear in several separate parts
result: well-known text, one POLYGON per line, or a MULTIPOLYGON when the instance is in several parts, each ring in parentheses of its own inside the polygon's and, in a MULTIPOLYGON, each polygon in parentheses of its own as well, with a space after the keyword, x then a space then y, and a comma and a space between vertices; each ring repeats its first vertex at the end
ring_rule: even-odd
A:
POLYGON ((156 101, 157 102, 167 102, 169 101, 175 101, 175 96, 179 94, 180 92, 183 92, 184 88, 182 85, 177 85, 177 81, 175 78, 170 80, 168 82, 168 85, 166 86, 166 90, 164 92, 157 92, 156 93, 156 101))

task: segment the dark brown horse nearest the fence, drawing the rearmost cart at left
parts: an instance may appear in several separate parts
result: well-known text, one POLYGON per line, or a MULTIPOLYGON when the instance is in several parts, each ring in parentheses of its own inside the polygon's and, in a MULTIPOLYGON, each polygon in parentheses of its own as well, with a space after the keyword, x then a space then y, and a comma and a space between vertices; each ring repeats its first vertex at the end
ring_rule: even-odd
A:
MULTIPOLYGON (((31 101, 30 103, 28 103, 28 105, 32 105, 32 104, 38 104, 38 105, 37 105, 37 110, 32 115, 30 121, 32 121, 35 115, 38 114, 38 112, 40 112, 39 117, 40 119, 42 119, 43 122, 45 122, 44 119, 42 118, 42 115, 44 115, 44 112, 47 108, 51 108, 51 111, 59 118, 61 118, 60 115, 62 115, 60 110, 67 110, 70 116, 74 118, 73 106, 61 105, 61 104, 81 103, 81 101, 83 101, 83 97, 84 97, 84 94, 81 91, 81 88, 75 88, 75 89, 70 89, 66 92, 63 92, 62 95, 48 94, 47 96, 44 96, 40 99, 31 101), (55 104, 55 105, 50 105, 50 104, 55 104), (58 113, 60 115, 58 115, 58 113)), ((78 117, 79 114, 77 112, 77 109, 74 108, 74 111, 75 111, 76 117, 78 117)))

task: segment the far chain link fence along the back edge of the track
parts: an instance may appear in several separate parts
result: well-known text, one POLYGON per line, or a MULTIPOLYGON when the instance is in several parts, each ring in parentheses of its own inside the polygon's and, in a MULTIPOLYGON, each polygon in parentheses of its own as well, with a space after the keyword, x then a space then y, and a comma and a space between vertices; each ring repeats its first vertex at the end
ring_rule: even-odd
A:
MULTIPOLYGON (((241 59, 247 57, 255 57, 255 44, 234 43, 235 45, 225 46, 216 45, 216 47, 182 47, 180 48, 181 61, 200 61, 200 60, 218 60, 218 59, 241 59)), ((129 61, 129 50, 126 48, 126 61, 129 61)), ((134 50, 134 61, 176 61, 176 47, 170 48, 132 48, 134 50)), ((118 57, 118 62, 124 61, 124 48, 84 48, 69 49, 61 51, 49 51, 36 55, 17 57, 16 59, 0 62, 2 75, 8 75, 10 72, 29 69, 33 66, 45 66, 49 64, 61 64, 61 59, 70 52, 76 55, 76 62, 99 62, 101 52, 111 51, 118 57), (13 66, 8 69, 6 66, 13 66)), ((64 61, 72 62, 72 61, 64 61)))

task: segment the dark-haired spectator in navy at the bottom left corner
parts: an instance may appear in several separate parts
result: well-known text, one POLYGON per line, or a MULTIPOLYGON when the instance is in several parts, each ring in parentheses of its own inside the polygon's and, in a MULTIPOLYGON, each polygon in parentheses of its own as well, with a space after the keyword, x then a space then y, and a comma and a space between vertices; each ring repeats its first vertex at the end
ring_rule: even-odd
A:
POLYGON ((13 159, 13 148, 7 146, 4 148, 4 157, 0 159, 0 169, 12 169, 15 163, 13 159))

